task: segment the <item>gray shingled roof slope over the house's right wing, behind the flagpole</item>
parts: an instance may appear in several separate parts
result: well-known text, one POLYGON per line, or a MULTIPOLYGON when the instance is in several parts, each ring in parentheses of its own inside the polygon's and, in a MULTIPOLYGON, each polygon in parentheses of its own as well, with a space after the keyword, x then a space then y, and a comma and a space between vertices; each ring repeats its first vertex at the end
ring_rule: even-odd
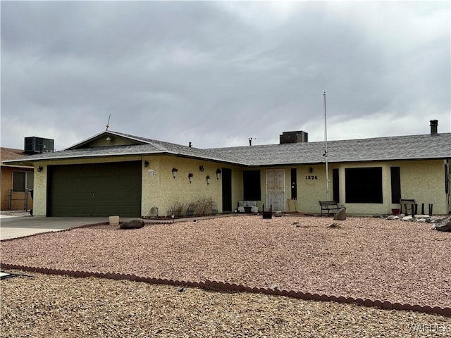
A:
MULTIPOLYGON (((323 163, 325 142, 210 149, 216 156, 247 165, 323 163)), ((330 163, 451 158, 451 133, 328 142, 330 163)))

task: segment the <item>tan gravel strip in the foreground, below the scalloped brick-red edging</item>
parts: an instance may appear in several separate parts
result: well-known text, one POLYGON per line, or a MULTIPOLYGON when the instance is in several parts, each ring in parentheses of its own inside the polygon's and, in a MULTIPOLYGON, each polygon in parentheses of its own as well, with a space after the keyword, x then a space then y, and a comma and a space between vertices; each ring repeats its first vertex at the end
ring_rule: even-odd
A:
MULTIPOLYGON (((14 271, 13 271, 14 272, 14 271)), ((265 294, 26 273, 0 282, 1 337, 450 337, 451 319, 265 294)))

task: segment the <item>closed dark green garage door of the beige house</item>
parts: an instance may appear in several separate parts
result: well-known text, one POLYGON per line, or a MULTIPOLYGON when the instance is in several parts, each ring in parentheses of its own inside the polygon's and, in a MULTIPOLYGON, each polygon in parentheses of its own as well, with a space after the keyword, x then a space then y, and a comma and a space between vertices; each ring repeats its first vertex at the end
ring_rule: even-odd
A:
POLYGON ((141 162, 49 166, 47 215, 138 217, 141 162))

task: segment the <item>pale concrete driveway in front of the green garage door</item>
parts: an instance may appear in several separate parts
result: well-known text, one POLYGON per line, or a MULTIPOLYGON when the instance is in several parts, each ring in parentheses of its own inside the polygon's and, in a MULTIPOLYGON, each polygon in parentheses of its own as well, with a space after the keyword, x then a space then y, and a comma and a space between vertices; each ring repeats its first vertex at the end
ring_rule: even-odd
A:
MULTIPOLYGON (((132 218, 121 218, 131 220, 132 218)), ((61 231, 80 225, 108 222, 108 217, 44 217, 0 215, 0 240, 30 236, 40 232, 61 231)))

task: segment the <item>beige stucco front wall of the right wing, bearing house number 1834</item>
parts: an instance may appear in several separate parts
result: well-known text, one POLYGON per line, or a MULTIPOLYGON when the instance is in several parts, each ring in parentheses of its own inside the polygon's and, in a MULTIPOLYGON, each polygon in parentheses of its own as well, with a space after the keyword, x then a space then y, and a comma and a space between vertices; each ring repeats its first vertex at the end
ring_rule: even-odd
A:
MULTIPOLYGON (((372 215, 376 213, 391 213, 393 208, 400 208, 399 204, 391 203, 390 167, 400 167, 401 196, 403 199, 415 199, 418 211, 421 204, 425 204, 428 213, 428 204, 433 204, 433 214, 443 215, 447 211, 447 197, 445 194, 445 177, 443 160, 431 161, 396 161, 396 162, 369 162, 369 163, 331 163, 328 170, 329 200, 333 199, 333 169, 338 168, 340 179, 340 204, 345 204, 350 215, 372 215), (345 196, 345 169, 381 167, 383 184, 382 204, 346 203, 345 196)), ((294 165, 289 167, 261 168, 261 201, 259 208, 266 203, 266 170, 283 168, 285 172, 285 211, 299 211, 302 213, 320 213, 318 201, 326 200, 326 165, 294 165), (289 201, 291 197, 291 168, 297 169, 297 200, 289 201), (309 168, 312 172, 309 173, 309 168)), ((258 168, 253 168, 258 169, 258 168)))

